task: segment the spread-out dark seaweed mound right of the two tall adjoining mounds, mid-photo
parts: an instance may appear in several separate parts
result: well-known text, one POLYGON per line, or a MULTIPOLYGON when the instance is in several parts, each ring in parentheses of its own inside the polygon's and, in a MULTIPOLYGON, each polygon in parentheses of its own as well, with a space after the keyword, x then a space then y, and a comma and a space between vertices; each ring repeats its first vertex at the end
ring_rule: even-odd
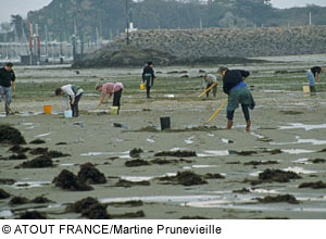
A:
POLYGON ((208 184, 200 175, 195 174, 190 171, 178 172, 176 176, 166 176, 160 178, 164 181, 173 181, 183 186, 203 185, 208 184))

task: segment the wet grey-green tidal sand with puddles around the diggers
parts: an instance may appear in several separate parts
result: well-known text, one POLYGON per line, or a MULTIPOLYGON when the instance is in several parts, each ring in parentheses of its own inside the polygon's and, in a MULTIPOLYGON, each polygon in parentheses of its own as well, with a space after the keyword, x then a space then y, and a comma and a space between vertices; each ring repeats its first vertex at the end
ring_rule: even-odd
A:
MULTIPOLYGON (((311 62, 286 64, 290 64, 291 68, 301 70, 311 65, 311 62)), ((54 166, 46 168, 15 168, 24 161, 36 158, 30 152, 26 152, 27 160, 1 160, 0 179, 13 179, 15 183, 0 185, 1 189, 11 194, 9 199, 0 200, 0 217, 16 218, 25 211, 35 209, 45 212, 48 218, 84 218, 80 213, 65 212, 65 207, 68 203, 93 197, 103 204, 108 203, 106 212, 110 215, 142 211, 145 216, 139 214, 137 218, 326 218, 325 188, 299 188, 303 183, 326 183, 326 163, 323 161, 326 154, 321 152, 326 148, 326 93, 318 92, 316 97, 304 96, 301 91, 305 83, 304 74, 275 75, 274 71, 283 68, 284 63, 233 67, 250 71, 261 68, 260 72, 252 73, 252 79, 248 83, 254 85, 252 93, 256 101, 256 109, 251 112, 250 133, 244 131, 244 120, 240 109, 236 111, 235 126, 231 130, 222 130, 226 125, 225 109, 208 124, 210 127, 199 128, 204 126, 215 109, 225 101, 225 95, 218 86, 216 99, 197 98, 201 92, 200 78, 196 78, 199 68, 187 66, 175 68, 188 70, 190 78, 184 80, 189 83, 177 85, 171 92, 156 88, 152 95, 153 99, 149 101, 143 99, 145 92, 139 91, 137 87, 129 91, 126 89, 120 115, 93 112, 92 109, 99 100, 93 90, 87 91, 82 98, 78 118, 63 118, 60 98, 53 99, 50 95, 45 95, 30 97, 30 101, 26 101, 26 97, 23 97, 26 96, 24 90, 21 90, 21 97, 20 91, 16 92, 12 108, 17 113, 9 117, 1 116, 1 124, 10 124, 17 128, 27 142, 35 139, 46 141, 42 144, 28 143, 22 147, 48 148, 71 156, 54 158, 54 166), (293 80, 289 81, 283 77, 293 77, 293 80), (198 85, 193 85, 196 80, 198 85), (189 86, 190 84, 192 86, 189 86), (43 114, 43 104, 52 104, 53 114, 43 114), (162 116, 171 117, 172 130, 160 130, 162 116), (113 123, 124 124, 125 127, 114 127, 113 123), (148 128, 158 130, 147 130, 148 128), (135 148, 143 152, 137 158, 131 158, 129 151, 135 148), (162 151, 176 150, 195 151, 197 155, 154 156, 162 151), (277 153, 273 154, 273 150, 277 153), (246 155, 248 151, 252 152, 246 155), (149 162, 149 165, 126 166, 127 161, 137 159, 149 162), (155 159, 165 160, 165 163, 153 163, 155 159), (319 161, 315 161, 316 159, 319 161), (104 174, 106 183, 91 184, 91 191, 68 191, 52 184, 54 177, 63 169, 77 175, 80 165, 88 162, 104 174), (289 179, 287 183, 252 184, 260 173, 267 168, 293 172, 300 178, 289 179), (160 179, 185 171, 200 175, 206 184, 183 186, 176 181, 160 179), (221 174, 225 178, 204 178, 206 174, 221 174), (149 184, 116 187, 120 179, 134 183, 147 180, 149 184), (299 203, 264 203, 258 199, 285 194, 293 196, 299 203), (15 196, 28 200, 45 196, 51 202, 10 204, 10 200, 15 196), (112 204, 129 200, 141 200, 143 203, 135 206, 112 204)), ((215 71, 213 67, 205 70, 215 71)), ((43 70, 43 74, 51 74, 51 71, 53 70, 43 70)), ((93 85, 101 75, 110 74, 110 71, 112 75, 123 72, 87 70, 83 77, 93 85), (87 75, 97 77, 92 79, 87 75)), ((135 78, 136 81, 138 71, 124 71, 125 77, 128 76, 130 80, 135 78)), ((171 68, 156 71, 162 71, 164 75, 171 68)), ((24 75, 26 70, 20 68, 17 72, 24 75)), ((33 74, 28 74, 33 78, 33 74)), ((63 78, 68 78, 72 72, 64 70, 61 74, 63 78)), ((23 81, 28 81, 28 77, 23 81)), ((171 78, 173 83, 180 80, 180 74, 166 74, 164 77, 171 78)), ((324 78, 322 75, 322 80, 324 78)), ((45 80, 51 81, 51 78, 45 80)), ((135 86, 137 84, 138 81, 135 86)), ((323 88, 318 90, 323 91, 323 88)), ((105 104, 102 110, 109 112, 109 106, 110 104, 105 104)), ((0 109, 0 112, 3 111, 2 105, 0 109)), ((13 154, 9 152, 10 147, 0 144, 2 158, 13 154)))

